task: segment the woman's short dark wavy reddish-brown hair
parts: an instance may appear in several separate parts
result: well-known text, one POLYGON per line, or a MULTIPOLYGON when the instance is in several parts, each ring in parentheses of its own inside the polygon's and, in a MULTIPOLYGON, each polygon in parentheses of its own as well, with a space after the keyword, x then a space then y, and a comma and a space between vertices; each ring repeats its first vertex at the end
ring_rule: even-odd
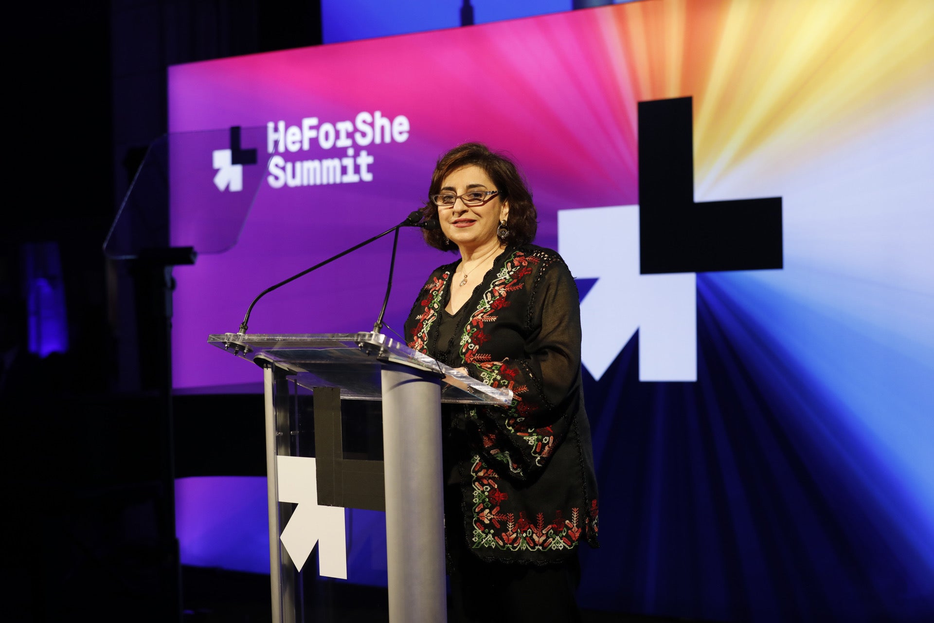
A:
MULTIPOLYGON (((441 191, 441 183, 445 177, 460 168, 472 165, 483 169, 496 185, 496 190, 500 191, 500 199, 509 202, 509 216, 506 218, 509 235, 503 242, 511 247, 525 245, 534 240, 538 230, 538 213, 531 202, 531 191, 526 186, 525 178, 518 172, 513 161, 502 153, 490 151, 486 145, 464 143, 439 158, 434 166, 428 196, 441 191)), ((431 199, 421 208, 421 213, 426 220, 438 220, 438 206, 432 204, 431 199)), ((434 248, 443 251, 457 250, 457 246, 447 239, 441 229, 423 229, 422 235, 425 242, 434 248)))

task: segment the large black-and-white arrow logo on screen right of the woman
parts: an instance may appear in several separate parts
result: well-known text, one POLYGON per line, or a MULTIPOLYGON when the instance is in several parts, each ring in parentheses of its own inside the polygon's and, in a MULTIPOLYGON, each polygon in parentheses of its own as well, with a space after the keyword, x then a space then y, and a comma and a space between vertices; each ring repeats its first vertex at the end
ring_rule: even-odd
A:
POLYGON ((558 213, 559 252, 593 280, 581 359, 604 375, 639 331, 639 380, 697 380, 697 273, 780 269, 782 199, 694 202, 691 98, 639 103, 639 205, 558 213))

